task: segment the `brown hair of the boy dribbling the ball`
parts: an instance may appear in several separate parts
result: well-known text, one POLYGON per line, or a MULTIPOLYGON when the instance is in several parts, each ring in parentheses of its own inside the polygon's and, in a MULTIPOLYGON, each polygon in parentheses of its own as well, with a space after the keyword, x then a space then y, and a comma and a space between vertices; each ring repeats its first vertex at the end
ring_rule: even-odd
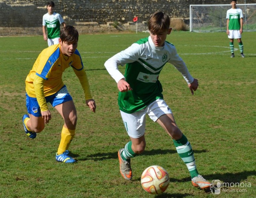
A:
POLYGON ((156 33, 168 30, 170 28, 170 21, 170 17, 163 12, 154 13, 149 18, 149 31, 151 33, 156 33))

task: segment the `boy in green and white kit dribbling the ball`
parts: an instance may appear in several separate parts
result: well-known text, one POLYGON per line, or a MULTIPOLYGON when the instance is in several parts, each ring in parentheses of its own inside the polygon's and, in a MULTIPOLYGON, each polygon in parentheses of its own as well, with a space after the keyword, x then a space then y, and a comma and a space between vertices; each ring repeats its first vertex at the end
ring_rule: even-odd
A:
POLYGON ((118 105, 125 129, 131 139, 118 151, 120 173, 126 180, 132 179, 130 159, 142 153, 146 147, 146 115, 173 139, 174 146, 187 165, 192 184, 209 188, 210 182, 199 175, 191 144, 177 127, 171 109, 163 100, 159 74, 166 63, 171 63, 182 74, 192 93, 198 87, 175 47, 165 41, 171 33, 170 18, 163 12, 153 14, 148 22, 150 36, 137 41, 129 48, 115 54, 105 62, 111 77, 119 89, 118 105), (118 65, 124 66, 124 76, 118 65))

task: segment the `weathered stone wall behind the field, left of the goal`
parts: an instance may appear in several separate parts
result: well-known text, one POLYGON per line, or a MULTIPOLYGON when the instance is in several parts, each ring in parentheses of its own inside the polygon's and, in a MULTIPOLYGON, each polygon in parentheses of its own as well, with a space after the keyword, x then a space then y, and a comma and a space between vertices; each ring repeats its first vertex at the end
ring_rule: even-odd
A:
MULTIPOLYGON (((48 0, 0 0, 0 35, 41 35, 48 0)), ((254 3, 247 0, 246 3, 254 3)), ((163 11, 189 23, 190 4, 228 4, 223 0, 54 0, 55 11, 80 33, 147 30, 151 14, 163 11)), ((244 3, 244 2, 242 2, 244 3)))

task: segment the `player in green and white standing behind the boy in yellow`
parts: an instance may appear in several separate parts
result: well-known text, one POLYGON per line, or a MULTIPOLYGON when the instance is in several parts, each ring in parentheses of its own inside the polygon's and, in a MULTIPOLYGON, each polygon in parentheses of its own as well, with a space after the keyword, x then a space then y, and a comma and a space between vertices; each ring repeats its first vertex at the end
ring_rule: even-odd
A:
POLYGON ((45 41, 48 41, 48 46, 59 43, 60 24, 62 24, 64 27, 66 26, 66 23, 64 22, 61 15, 54 12, 54 6, 55 6, 54 2, 49 1, 47 3, 48 13, 46 13, 43 16, 43 39, 45 41), (46 26, 47 26, 48 39, 46 36, 46 26))

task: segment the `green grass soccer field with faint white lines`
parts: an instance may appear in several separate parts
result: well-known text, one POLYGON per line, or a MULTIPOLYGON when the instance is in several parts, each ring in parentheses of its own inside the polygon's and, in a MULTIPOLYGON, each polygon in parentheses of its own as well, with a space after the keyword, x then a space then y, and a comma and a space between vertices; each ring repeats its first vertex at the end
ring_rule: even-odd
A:
MULTIPOLYGON (((71 68, 63 81, 73 96, 78 123, 70 151, 78 162, 55 161, 63 120, 50 107, 52 119, 36 139, 27 138, 22 116, 27 112, 25 79, 40 51, 42 36, 0 37, 0 197, 255 197, 256 195, 256 39, 244 32, 245 58, 237 41, 230 58, 225 33, 172 32, 173 43, 199 88, 191 95, 175 68, 166 64, 160 75, 163 95, 176 122, 195 151, 199 173, 209 181, 229 184, 213 194, 195 188, 171 139, 147 118, 145 152, 131 160, 133 179, 119 173, 117 151, 129 141, 117 105, 116 83, 104 62, 147 33, 80 35, 81 53, 97 109, 85 105, 82 87, 71 68), (151 165, 170 176, 158 196, 141 187, 140 176, 151 165), (235 184, 235 185, 234 185, 235 184), (239 186, 238 186, 239 184, 239 186)), ((125 68, 120 67, 124 72, 125 68)), ((50 105, 49 105, 50 106, 50 105)))

